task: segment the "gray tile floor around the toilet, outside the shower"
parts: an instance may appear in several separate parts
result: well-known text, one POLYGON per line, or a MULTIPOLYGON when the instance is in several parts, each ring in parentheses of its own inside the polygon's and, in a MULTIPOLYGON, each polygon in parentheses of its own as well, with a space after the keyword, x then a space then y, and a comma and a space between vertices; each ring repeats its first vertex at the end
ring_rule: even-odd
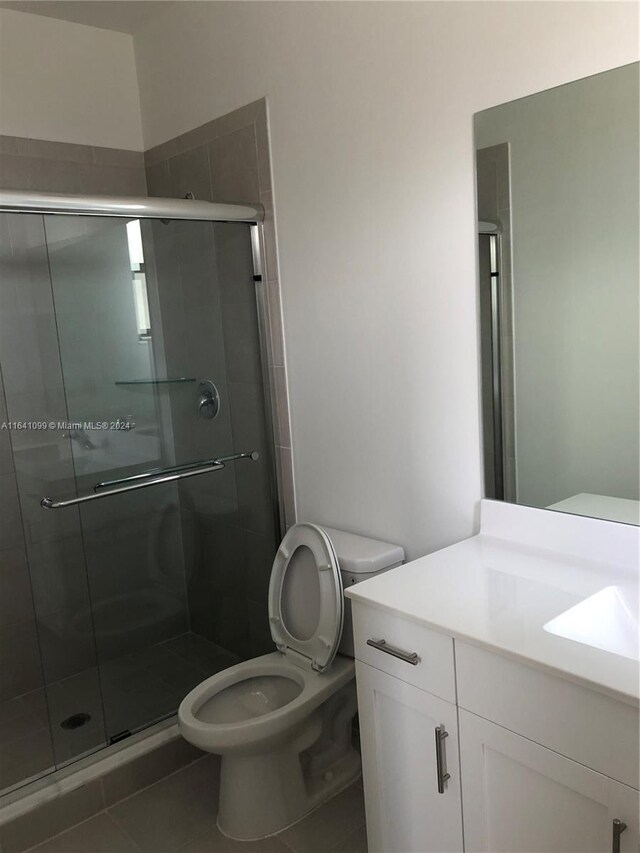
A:
POLYGON ((31 853, 367 853, 360 780, 279 835, 239 842, 216 828, 218 766, 205 756, 31 853))

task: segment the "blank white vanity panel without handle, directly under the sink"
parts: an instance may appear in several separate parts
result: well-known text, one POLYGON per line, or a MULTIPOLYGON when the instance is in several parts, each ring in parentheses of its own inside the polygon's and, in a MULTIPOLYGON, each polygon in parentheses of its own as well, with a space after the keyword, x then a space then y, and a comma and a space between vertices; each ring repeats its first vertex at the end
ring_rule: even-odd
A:
POLYGON ((638 788, 637 707, 456 641, 458 705, 638 788))

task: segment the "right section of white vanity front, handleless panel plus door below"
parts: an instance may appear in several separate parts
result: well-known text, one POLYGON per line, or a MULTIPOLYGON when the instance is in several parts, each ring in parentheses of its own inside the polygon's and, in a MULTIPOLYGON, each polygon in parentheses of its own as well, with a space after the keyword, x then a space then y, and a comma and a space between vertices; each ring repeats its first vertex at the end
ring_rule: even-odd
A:
POLYGON ((638 853, 637 708, 454 645, 466 853, 638 853))

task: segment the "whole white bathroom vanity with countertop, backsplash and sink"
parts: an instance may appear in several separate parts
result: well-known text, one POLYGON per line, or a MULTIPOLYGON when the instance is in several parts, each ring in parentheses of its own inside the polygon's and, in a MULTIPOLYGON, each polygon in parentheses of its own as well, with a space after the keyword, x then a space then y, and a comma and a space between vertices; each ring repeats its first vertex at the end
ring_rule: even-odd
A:
POLYGON ((484 500, 347 591, 371 853, 637 853, 639 545, 484 500))

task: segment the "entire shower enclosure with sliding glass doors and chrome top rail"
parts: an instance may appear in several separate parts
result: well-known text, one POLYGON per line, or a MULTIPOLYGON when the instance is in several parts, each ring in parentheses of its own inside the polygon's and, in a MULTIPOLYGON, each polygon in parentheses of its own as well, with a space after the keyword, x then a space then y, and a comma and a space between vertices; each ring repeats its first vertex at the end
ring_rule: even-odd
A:
POLYGON ((2 792, 271 651, 280 528, 259 212, 0 201, 2 792))

